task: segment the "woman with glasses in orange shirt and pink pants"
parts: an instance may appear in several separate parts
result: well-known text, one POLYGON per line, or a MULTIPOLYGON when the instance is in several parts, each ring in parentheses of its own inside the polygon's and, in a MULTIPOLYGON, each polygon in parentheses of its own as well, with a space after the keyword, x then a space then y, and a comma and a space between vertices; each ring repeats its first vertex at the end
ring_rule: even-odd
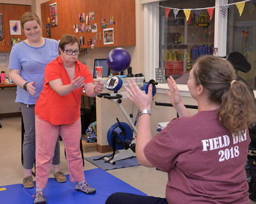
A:
POLYGON ((45 68, 44 90, 35 106, 36 114, 36 194, 34 203, 46 203, 47 184, 60 131, 67 152, 70 180, 77 182, 76 191, 93 194, 96 189, 84 180, 83 161, 79 148, 81 139, 80 104, 83 87, 94 97, 103 89, 100 80, 93 83, 92 73, 77 61, 80 45, 76 36, 64 35, 59 43, 60 56, 45 68))

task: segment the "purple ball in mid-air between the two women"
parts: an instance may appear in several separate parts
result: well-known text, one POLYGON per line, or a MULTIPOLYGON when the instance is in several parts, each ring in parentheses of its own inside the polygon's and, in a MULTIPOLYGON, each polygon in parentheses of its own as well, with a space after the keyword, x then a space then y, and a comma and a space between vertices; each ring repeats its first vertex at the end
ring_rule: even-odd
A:
POLYGON ((124 71, 130 66, 131 55, 124 48, 115 48, 109 52, 107 62, 114 71, 124 71))

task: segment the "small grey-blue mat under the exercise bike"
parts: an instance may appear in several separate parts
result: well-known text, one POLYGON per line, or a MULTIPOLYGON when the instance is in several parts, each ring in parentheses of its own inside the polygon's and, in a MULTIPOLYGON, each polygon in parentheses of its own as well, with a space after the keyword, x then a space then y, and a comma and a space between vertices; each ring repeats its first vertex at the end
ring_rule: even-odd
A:
POLYGON ((96 160, 96 161, 93 160, 93 159, 98 159, 99 157, 102 157, 102 156, 85 157, 84 159, 86 159, 90 163, 94 164, 95 166, 98 166, 99 168, 101 168, 102 170, 105 170, 105 171, 113 170, 116 168, 125 168, 125 167, 140 165, 137 157, 129 157, 127 159, 118 160, 118 161, 116 161, 115 165, 106 163, 103 159, 96 160))

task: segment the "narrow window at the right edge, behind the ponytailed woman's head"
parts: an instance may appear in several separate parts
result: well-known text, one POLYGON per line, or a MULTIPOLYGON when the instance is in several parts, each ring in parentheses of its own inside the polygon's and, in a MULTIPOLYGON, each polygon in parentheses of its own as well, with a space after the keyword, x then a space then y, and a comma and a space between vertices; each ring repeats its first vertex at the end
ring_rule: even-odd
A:
MULTIPOLYGON (((228 4, 240 1, 230 0, 228 4)), ((236 6, 228 8, 227 28, 227 53, 232 51, 241 52, 250 62, 252 68, 247 73, 241 71, 237 75, 255 89, 255 68, 256 68, 256 5, 252 1, 244 4, 242 15, 236 6)))

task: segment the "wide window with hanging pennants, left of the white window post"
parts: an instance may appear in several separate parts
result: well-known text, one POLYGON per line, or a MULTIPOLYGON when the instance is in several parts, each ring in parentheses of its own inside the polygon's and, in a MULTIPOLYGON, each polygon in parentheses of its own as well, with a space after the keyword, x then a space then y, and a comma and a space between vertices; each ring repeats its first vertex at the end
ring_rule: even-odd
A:
POLYGON ((193 8, 214 7, 215 1, 169 0, 159 5, 159 68, 164 68, 165 77, 186 84, 193 62, 214 53, 214 12, 210 19, 206 9, 193 8), (190 8, 191 13, 186 20, 184 10, 175 17, 174 10, 166 13, 166 8, 190 8))

